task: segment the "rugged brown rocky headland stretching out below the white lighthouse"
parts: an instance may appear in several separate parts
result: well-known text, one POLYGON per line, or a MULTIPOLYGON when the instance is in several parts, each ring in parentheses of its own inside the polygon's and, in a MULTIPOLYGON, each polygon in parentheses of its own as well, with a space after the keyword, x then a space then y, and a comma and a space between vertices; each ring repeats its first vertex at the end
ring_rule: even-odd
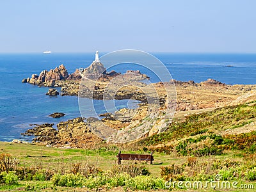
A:
MULTIPOLYGON (((93 62, 83 71, 77 69, 73 74, 68 74, 63 65, 54 70, 44 70, 39 76, 33 74, 31 78, 23 79, 22 83, 61 87, 61 96, 76 95, 90 99, 135 99, 140 101, 140 104, 137 109, 120 109, 115 113, 104 113, 100 115, 103 117, 101 119, 88 118, 84 121, 83 118, 75 118, 67 122, 60 122, 57 125, 57 130, 52 127, 53 124, 36 125, 33 129, 26 131, 24 135, 32 134, 35 136, 34 142, 45 145, 82 148, 102 143, 103 137, 99 138, 93 134, 97 131, 97 127, 102 126, 119 131, 132 129, 138 125, 143 130, 151 126, 145 136, 152 136, 167 124, 162 112, 148 116, 148 99, 154 100, 157 95, 159 109, 164 111, 167 102, 166 89, 173 89, 173 84, 175 84, 175 93, 172 97, 177 97, 175 118, 186 116, 193 111, 201 113, 200 111, 205 109, 212 110, 256 100, 255 84, 229 85, 214 79, 207 79, 201 83, 172 79, 170 82, 146 84, 141 81, 144 79, 149 79, 149 77, 141 74, 140 71, 129 70, 125 74, 115 71, 106 72, 106 68, 99 62, 93 62), (124 84, 130 85, 124 86, 124 84), (108 90, 108 94, 104 95, 106 90, 108 90), (175 95, 176 93, 177 95, 175 95), (153 122, 154 125, 148 124, 148 122, 153 122)), ((50 95, 58 94, 54 89, 50 89, 49 93, 51 93, 50 95)), ((55 115, 53 114, 53 116, 55 115)))

